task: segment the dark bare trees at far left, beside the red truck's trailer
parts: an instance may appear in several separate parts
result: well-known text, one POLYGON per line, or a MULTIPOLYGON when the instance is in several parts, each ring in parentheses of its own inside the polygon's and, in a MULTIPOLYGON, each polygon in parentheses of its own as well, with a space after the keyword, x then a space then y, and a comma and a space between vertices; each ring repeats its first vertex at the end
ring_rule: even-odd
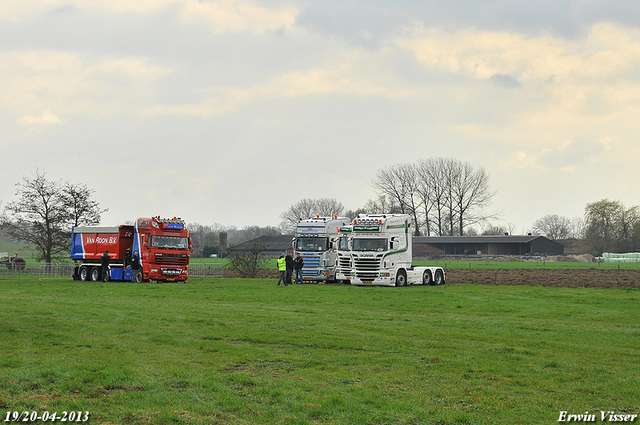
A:
POLYGON ((69 255, 71 226, 100 220, 100 207, 90 199, 93 192, 84 185, 47 180, 38 170, 32 179, 22 180, 16 184, 18 200, 4 208, 3 226, 15 240, 34 244, 47 263, 69 255))

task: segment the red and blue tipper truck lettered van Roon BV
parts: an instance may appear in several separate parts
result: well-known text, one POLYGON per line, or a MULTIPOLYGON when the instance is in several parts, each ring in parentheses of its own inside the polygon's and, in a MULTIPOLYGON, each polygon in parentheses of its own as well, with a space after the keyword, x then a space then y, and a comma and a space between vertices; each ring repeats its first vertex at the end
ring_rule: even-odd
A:
POLYGON ((77 226, 71 229, 73 279, 102 280, 100 259, 109 251, 109 280, 187 280, 191 238, 184 220, 141 217, 134 225, 77 226), (140 258, 141 273, 132 279, 131 257, 140 258))

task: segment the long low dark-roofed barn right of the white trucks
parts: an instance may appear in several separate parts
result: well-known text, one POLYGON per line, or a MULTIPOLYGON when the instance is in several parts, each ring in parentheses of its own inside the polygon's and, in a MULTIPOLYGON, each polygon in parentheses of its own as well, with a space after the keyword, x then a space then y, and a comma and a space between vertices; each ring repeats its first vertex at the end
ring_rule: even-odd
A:
POLYGON ((564 246, 544 236, 414 236, 413 256, 563 255, 564 246))

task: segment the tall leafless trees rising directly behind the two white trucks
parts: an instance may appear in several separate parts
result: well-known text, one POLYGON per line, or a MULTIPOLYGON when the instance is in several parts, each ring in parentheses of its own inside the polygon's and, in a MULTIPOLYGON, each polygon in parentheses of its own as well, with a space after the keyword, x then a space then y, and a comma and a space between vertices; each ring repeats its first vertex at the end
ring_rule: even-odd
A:
POLYGON ((281 228, 291 232, 300 218, 316 214, 399 213, 411 216, 416 236, 464 235, 471 226, 497 216, 485 210, 495 195, 489 180, 484 168, 453 158, 390 165, 377 171, 372 182, 377 198, 362 208, 345 211, 335 199, 303 199, 282 213, 281 228))

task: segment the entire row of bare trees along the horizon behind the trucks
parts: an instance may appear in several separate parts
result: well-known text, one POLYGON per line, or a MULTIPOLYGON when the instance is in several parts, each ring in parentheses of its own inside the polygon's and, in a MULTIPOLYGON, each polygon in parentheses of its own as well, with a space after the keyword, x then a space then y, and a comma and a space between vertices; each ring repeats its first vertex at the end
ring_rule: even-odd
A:
MULTIPOLYGON (((346 210, 336 199, 302 199, 281 214, 275 226, 242 229, 191 223, 190 234, 205 254, 221 253, 221 233, 228 246, 260 236, 292 234, 300 219, 320 216, 357 217, 360 213, 403 213, 412 217, 415 235, 446 236, 478 234, 474 226, 487 223, 496 214, 485 209, 495 192, 483 168, 455 159, 431 158, 392 165, 376 173, 372 186, 377 197, 356 210, 346 210)), ((50 181, 37 170, 33 178, 16 184, 17 200, 7 203, 0 226, 17 242, 34 245, 46 262, 68 258, 72 226, 97 225, 107 209, 92 199, 94 191, 84 184, 50 181)), ((482 234, 502 234, 504 228, 486 227, 482 234)), ((579 252, 640 250, 640 207, 603 199, 589 203, 583 217, 547 215, 536 220, 531 233, 552 240, 578 239, 579 252)))

